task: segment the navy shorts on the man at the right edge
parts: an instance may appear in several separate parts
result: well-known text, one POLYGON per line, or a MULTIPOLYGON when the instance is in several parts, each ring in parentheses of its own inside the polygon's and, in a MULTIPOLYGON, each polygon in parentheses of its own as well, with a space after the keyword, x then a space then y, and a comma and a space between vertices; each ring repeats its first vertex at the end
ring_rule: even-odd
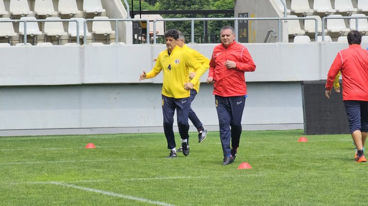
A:
POLYGON ((368 101, 345 100, 344 105, 350 133, 356 130, 368 132, 368 101))

